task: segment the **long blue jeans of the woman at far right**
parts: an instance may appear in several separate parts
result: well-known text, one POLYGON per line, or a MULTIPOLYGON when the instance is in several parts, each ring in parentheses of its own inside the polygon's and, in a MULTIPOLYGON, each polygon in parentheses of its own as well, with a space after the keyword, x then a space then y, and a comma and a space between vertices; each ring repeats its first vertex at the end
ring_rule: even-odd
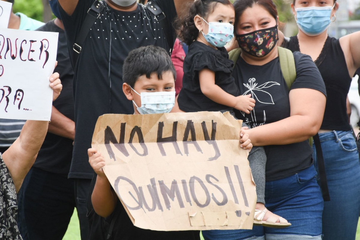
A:
POLYGON ((323 239, 354 240, 360 213, 360 163, 354 136, 352 131, 330 131, 319 137, 330 194, 330 201, 324 203, 323 239))

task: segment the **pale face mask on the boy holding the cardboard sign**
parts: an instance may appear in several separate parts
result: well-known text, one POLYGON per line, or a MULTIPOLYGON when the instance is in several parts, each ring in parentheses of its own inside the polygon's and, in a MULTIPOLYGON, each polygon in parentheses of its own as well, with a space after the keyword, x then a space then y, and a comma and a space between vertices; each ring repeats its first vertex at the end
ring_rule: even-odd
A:
MULTIPOLYGON (((136 92, 132 87, 132 91, 136 92)), ((175 105, 174 92, 136 92, 141 97, 141 107, 135 104, 140 114, 170 113, 175 105)))

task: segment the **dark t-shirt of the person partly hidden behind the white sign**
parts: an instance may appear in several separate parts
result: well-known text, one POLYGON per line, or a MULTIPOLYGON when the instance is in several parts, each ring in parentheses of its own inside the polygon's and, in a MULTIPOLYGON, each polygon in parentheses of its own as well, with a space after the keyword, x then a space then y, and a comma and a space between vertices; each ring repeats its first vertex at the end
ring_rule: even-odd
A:
MULTIPOLYGON (((74 100, 72 85, 74 72, 71 67, 65 32, 55 25, 54 20, 46 23, 37 31, 58 32, 58 65, 54 72, 60 74, 63 89, 53 106, 67 118, 74 121, 74 100)), ((44 171, 68 175, 72 158, 73 140, 48 132, 33 167, 44 171)))

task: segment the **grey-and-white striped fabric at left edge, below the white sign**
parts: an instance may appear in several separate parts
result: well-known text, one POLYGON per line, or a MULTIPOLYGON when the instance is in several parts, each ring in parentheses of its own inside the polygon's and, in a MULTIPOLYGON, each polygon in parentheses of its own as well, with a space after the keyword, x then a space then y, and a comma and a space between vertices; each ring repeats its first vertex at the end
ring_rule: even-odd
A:
POLYGON ((9 147, 20 135, 25 120, 0 118, 0 147, 9 147))

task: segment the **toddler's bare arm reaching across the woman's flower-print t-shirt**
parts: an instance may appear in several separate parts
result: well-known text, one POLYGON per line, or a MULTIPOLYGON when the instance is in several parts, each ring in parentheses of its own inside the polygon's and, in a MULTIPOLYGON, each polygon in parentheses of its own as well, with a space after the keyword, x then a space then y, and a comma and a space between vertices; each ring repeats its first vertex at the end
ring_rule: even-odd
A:
POLYGON ((216 103, 242 110, 248 114, 255 107, 255 99, 250 98, 251 94, 235 97, 217 86, 215 72, 210 69, 204 68, 199 72, 199 81, 201 92, 216 103))

